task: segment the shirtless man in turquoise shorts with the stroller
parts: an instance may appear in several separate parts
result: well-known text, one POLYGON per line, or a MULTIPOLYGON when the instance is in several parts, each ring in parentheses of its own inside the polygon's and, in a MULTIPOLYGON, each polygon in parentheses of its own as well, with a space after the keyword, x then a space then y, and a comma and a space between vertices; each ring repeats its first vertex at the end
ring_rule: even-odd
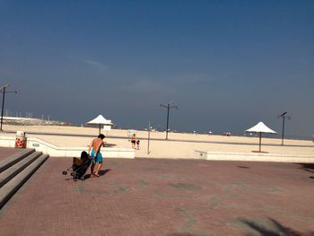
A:
POLYGON ((98 135, 98 137, 92 140, 92 143, 88 148, 88 153, 92 156, 91 177, 100 177, 100 168, 102 166, 102 155, 100 153, 100 148, 105 146, 105 142, 103 141, 104 138, 105 135, 98 135), (94 172, 96 162, 98 162, 98 166, 96 172, 94 172))

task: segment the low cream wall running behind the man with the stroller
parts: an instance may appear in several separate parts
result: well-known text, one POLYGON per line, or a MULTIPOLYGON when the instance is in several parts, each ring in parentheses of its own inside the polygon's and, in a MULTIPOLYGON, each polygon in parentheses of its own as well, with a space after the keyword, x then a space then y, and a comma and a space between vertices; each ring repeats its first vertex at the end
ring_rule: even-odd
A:
MULTIPOLYGON (((15 137, 0 136, 0 146, 14 147, 14 144, 15 137)), ((27 147, 50 156, 79 157, 83 151, 87 151, 86 147, 57 147, 39 138, 28 138, 27 147)), ((132 148, 104 147, 101 149, 101 154, 109 158, 135 158, 135 150, 132 148)))

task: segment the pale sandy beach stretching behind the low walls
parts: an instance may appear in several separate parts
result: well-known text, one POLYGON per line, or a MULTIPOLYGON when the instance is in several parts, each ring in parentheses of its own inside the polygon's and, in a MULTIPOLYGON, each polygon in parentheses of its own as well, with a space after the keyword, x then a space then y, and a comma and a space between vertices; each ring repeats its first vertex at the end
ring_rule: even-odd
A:
MULTIPOLYGON (((23 130, 28 137, 37 137, 59 147, 83 147, 91 142, 92 136, 98 135, 95 127, 55 127, 55 126, 4 126, 3 136, 15 135, 17 130, 23 130), (5 133, 10 132, 10 133, 5 133), (37 134, 31 134, 37 133, 37 134), (38 134, 38 133, 44 133, 38 134)), ((108 146, 131 147, 127 138, 127 130, 112 129, 102 131, 106 135, 108 146)), ((136 131, 136 137, 141 140, 140 150, 136 150, 136 157, 150 158, 195 158, 195 151, 251 153, 258 150, 258 137, 222 136, 222 135, 194 135, 169 133, 169 140, 165 141, 164 132, 150 133, 150 153, 148 150, 148 132, 136 131)), ((262 138, 262 151, 267 153, 313 155, 314 143, 305 140, 285 139, 281 145, 281 138, 262 138)))

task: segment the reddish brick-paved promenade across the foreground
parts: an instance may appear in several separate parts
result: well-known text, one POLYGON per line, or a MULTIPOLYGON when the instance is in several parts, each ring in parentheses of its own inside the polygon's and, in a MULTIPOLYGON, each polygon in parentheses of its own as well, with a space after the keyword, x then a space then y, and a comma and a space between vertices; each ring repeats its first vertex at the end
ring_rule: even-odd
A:
POLYGON ((43 164, 0 211, 0 235, 314 235, 312 165, 106 159, 74 181, 71 162, 43 164))

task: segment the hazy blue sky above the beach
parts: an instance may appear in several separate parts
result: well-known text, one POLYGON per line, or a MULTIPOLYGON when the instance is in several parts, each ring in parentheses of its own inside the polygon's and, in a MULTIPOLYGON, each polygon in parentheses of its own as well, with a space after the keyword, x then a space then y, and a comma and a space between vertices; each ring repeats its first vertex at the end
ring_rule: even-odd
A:
POLYGON ((0 0, 5 108, 83 124, 314 135, 314 1, 0 0))

